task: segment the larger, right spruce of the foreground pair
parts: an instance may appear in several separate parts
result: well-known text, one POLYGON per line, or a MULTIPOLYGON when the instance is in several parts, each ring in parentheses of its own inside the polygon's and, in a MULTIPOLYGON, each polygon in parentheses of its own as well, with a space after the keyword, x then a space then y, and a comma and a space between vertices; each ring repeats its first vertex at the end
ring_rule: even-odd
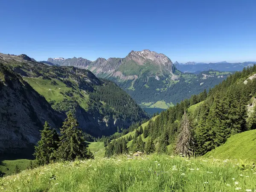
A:
POLYGON ((87 143, 84 140, 84 134, 72 113, 67 113, 61 128, 60 145, 56 151, 59 160, 72 161, 76 158, 85 159, 87 155, 87 143))

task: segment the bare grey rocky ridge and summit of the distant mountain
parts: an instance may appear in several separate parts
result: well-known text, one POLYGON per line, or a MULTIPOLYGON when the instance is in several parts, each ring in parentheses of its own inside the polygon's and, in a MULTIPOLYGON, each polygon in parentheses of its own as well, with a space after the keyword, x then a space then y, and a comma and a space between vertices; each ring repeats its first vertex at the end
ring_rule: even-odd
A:
POLYGON ((48 58, 47 62, 61 66, 75 66, 92 71, 99 77, 115 77, 122 80, 137 79, 141 71, 162 76, 175 73, 175 66, 164 54, 145 49, 131 51, 125 58, 98 58, 89 61, 83 58, 48 58))

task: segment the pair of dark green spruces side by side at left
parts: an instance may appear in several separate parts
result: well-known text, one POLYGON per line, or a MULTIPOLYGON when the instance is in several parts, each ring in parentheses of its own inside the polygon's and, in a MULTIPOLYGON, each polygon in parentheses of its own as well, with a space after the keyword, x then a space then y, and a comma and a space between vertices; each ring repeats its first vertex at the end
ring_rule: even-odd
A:
POLYGON ((35 146, 34 156, 38 165, 45 165, 54 161, 89 159, 93 158, 84 133, 73 113, 67 113, 67 119, 63 122, 61 136, 45 122, 41 131, 41 140, 35 146))

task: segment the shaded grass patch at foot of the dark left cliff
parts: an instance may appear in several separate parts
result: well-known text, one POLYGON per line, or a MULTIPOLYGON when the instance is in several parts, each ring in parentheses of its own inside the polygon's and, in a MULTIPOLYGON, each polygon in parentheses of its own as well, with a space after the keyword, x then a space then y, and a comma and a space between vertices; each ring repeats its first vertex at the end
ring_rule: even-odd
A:
POLYGON ((20 170, 25 170, 29 165, 30 160, 18 159, 18 160, 3 160, 0 161, 0 172, 6 175, 12 175, 15 173, 15 166, 17 165, 20 170))

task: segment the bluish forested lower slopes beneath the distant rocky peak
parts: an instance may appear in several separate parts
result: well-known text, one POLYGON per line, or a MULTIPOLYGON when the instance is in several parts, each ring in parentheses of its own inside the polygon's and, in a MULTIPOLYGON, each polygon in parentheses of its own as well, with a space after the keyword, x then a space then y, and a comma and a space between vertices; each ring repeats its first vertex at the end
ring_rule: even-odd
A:
POLYGON ((115 81, 119 87, 129 93, 137 103, 164 100, 166 103, 172 102, 176 105, 183 99, 190 98, 192 95, 198 95, 204 89, 214 87, 227 77, 227 75, 224 75, 224 78, 218 78, 218 76, 212 76, 209 72, 204 71, 199 75, 182 73, 178 81, 169 83, 168 81, 170 80, 166 80, 165 76, 159 76, 160 80, 157 80, 154 76, 148 78, 145 74, 142 74, 134 82, 132 80, 123 82, 118 82, 116 79, 111 80, 115 81), (202 74, 208 75, 208 77, 204 78, 202 74), (131 86, 135 90, 128 89, 131 86), (149 95, 150 97, 148 97, 149 95))

